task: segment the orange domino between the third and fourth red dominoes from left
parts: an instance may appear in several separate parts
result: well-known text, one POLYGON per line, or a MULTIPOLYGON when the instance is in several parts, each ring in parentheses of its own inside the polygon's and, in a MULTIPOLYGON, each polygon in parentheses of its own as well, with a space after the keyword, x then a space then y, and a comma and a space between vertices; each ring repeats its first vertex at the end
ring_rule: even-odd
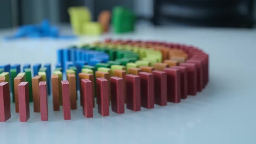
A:
POLYGON ((52 75, 53 111, 59 111, 59 78, 52 75))

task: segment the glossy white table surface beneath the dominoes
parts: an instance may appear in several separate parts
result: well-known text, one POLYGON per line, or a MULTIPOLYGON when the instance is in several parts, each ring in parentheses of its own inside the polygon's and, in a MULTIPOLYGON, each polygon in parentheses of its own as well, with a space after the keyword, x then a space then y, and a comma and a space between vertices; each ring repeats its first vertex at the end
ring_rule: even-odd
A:
MULTIPOLYGON (((30 103, 30 119, 21 123, 11 105, 11 118, 0 123, 0 144, 255 144, 256 143, 256 29, 153 27, 139 25, 135 33, 83 36, 79 39, 17 39, 5 41, 13 30, 0 30, 0 64, 56 63, 56 49, 113 39, 178 42, 198 46, 210 55, 210 82, 197 96, 179 104, 102 117, 85 118, 82 108, 64 121, 53 112, 41 121, 30 103)), ((70 33, 64 27, 62 33, 70 33)), ((52 68, 53 68, 52 65, 52 68)), ((79 104, 79 101, 78 101, 79 104)))

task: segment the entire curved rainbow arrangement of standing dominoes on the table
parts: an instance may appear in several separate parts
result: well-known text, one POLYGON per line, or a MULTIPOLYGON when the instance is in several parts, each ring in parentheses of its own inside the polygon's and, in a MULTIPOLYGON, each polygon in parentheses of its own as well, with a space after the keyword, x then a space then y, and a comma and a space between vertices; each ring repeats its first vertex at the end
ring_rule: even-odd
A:
MULTIPOLYGON (((83 115, 92 118, 96 104, 102 116, 109 115, 109 101, 118 114, 125 112, 125 104, 140 111, 141 106, 179 103, 202 91, 209 81, 207 53, 193 46, 154 41, 106 39, 58 49, 53 75, 49 63, 43 68, 33 65, 33 78, 30 65, 16 75, 13 71, 20 68, 11 68, 10 85, 20 121, 30 117, 29 101, 33 101, 34 112, 41 113, 41 120, 48 121, 47 95, 51 93, 53 110, 59 111, 62 105, 68 120, 70 110, 77 108, 77 90, 83 115)), ((0 74, 0 121, 10 118, 9 73, 4 71, 0 74)))

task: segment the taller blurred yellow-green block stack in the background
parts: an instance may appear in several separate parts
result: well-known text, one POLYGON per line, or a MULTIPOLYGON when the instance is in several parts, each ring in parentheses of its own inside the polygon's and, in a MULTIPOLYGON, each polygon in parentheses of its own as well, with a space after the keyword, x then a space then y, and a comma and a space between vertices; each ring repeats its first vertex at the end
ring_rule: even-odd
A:
POLYGON ((70 22, 75 34, 84 34, 83 27, 91 21, 91 13, 87 7, 69 7, 70 22))

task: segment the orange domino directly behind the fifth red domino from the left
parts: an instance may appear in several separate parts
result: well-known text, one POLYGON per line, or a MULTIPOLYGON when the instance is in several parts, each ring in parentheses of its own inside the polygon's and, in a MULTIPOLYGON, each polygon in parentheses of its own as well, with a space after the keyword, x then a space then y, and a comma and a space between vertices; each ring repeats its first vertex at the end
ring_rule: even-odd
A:
POLYGON ((82 79, 89 79, 92 84, 93 84, 93 89, 92 89, 92 96, 93 96, 93 99, 92 99, 92 104, 93 104, 93 107, 95 106, 95 102, 94 102, 94 95, 95 95, 95 82, 94 82, 94 76, 93 74, 87 74, 87 73, 79 73, 79 82, 80 82, 80 105, 83 106, 83 101, 84 101, 84 98, 83 98, 83 88, 82 88, 82 83, 81 83, 81 80, 82 79))

